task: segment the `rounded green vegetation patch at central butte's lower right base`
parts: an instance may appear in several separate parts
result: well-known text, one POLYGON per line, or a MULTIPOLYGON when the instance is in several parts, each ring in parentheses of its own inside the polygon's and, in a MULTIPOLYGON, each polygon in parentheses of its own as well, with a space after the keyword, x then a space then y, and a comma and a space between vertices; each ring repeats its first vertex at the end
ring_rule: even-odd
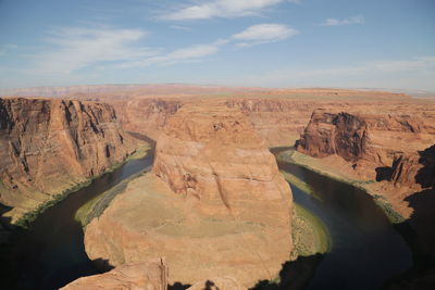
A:
POLYGON ((323 254, 331 247, 331 237, 322 220, 297 203, 294 203, 291 237, 293 256, 323 254))

